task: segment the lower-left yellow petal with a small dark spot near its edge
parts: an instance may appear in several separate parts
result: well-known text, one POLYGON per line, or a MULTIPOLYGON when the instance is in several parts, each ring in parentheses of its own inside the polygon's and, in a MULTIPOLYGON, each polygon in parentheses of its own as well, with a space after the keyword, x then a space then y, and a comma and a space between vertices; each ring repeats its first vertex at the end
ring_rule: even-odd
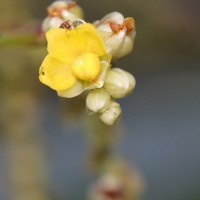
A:
POLYGON ((51 56, 46 56, 41 67, 39 79, 54 90, 65 90, 76 83, 69 65, 62 63, 51 56))

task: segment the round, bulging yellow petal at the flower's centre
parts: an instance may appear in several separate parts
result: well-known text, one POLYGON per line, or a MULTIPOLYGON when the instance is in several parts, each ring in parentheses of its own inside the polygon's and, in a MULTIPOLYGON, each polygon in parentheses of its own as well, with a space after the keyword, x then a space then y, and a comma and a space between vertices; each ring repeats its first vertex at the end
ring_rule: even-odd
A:
POLYGON ((97 78, 101 66, 99 57, 94 53, 79 56, 71 66, 74 76, 84 81, 97 78))

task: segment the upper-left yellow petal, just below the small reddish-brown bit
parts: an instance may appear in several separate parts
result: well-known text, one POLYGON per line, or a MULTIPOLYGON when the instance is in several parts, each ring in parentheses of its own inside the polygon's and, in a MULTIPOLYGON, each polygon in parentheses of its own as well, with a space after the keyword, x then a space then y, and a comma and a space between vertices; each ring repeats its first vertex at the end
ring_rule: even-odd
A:
POLYGON ((85 51, 85 41, 75 29, 50 29, 46 33, 49 54, 66 64, 72 63, 77 56, 85 51))

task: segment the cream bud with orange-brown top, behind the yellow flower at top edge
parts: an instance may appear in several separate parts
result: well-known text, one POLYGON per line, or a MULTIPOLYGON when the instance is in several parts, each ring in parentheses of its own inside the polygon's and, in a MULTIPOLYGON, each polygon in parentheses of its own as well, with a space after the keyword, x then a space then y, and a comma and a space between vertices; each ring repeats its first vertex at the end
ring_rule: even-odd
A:
POLYGON ((74 1, 55 1, 48 8, 48 16, 42 23, 42 30, 59 28, 64 21, 83 19, 83 11, 74 1))

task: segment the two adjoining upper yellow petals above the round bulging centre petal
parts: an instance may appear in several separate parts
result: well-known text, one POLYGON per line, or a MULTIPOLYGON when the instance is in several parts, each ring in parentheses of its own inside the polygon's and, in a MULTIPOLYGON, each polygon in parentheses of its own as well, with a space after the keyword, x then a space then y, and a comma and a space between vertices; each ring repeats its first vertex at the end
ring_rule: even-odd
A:
POLYGON ((106 53, 104 42, 92 24, 86 23, 72 30, 53 28, 46 33, 49 54, 66 64, 82 53, 106 53))

